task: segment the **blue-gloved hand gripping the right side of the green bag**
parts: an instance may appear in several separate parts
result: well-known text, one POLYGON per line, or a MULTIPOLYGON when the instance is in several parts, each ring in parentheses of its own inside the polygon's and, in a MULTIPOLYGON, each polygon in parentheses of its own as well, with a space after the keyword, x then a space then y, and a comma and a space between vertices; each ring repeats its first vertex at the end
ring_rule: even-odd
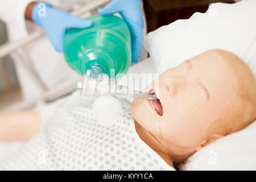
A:
POLYGON ((142 0, 113 0, 104 9, 98 11, 102 16, 119 13, 127 22, 131 31, 133 63, 139 61, 142 51, 144 20, 141 2, 142 0))

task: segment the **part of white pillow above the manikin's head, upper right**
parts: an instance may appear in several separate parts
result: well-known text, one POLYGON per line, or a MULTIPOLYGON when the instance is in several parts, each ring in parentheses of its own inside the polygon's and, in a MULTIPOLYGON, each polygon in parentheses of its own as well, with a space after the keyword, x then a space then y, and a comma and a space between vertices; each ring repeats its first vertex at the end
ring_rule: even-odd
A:
POLYGON ((144 47, 160 73, 209 49, 223 49, 245 61, 256 78, 255 7, 255 0, 214 3, 205 14, 150 32, 144 47))

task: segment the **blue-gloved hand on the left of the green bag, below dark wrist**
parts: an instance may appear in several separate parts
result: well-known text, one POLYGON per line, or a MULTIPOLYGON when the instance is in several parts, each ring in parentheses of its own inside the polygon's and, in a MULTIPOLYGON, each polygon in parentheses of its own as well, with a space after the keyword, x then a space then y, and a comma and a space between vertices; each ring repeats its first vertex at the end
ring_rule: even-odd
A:
POLYGON ((91 20, 54 9, 49 3, 37 3, 32 10, 32 20, 43 28, 57 52, 63 52, 63 38, 67 28, 88 28, 93 24, 91 20))

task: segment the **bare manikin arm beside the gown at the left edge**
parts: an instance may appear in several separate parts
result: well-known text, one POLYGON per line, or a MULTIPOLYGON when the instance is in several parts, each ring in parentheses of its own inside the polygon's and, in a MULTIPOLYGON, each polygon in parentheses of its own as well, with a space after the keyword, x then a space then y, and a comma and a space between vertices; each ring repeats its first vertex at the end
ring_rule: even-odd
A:
POLYGON ((27 140, 40 130, 41 120, 35 111, 0 115, 0 140, 27 140))

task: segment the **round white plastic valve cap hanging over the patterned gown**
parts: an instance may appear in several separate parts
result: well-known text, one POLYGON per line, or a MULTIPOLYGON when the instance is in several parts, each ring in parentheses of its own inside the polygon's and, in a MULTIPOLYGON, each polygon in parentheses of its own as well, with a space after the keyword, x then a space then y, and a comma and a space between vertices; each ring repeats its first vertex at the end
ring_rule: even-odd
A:
POLYGON ((122 106, 116 98, 104 96, 94 101, 92 110, 97 122, 102 126, 108 127, 117 123, 117 119, 121 115, 122 106))

